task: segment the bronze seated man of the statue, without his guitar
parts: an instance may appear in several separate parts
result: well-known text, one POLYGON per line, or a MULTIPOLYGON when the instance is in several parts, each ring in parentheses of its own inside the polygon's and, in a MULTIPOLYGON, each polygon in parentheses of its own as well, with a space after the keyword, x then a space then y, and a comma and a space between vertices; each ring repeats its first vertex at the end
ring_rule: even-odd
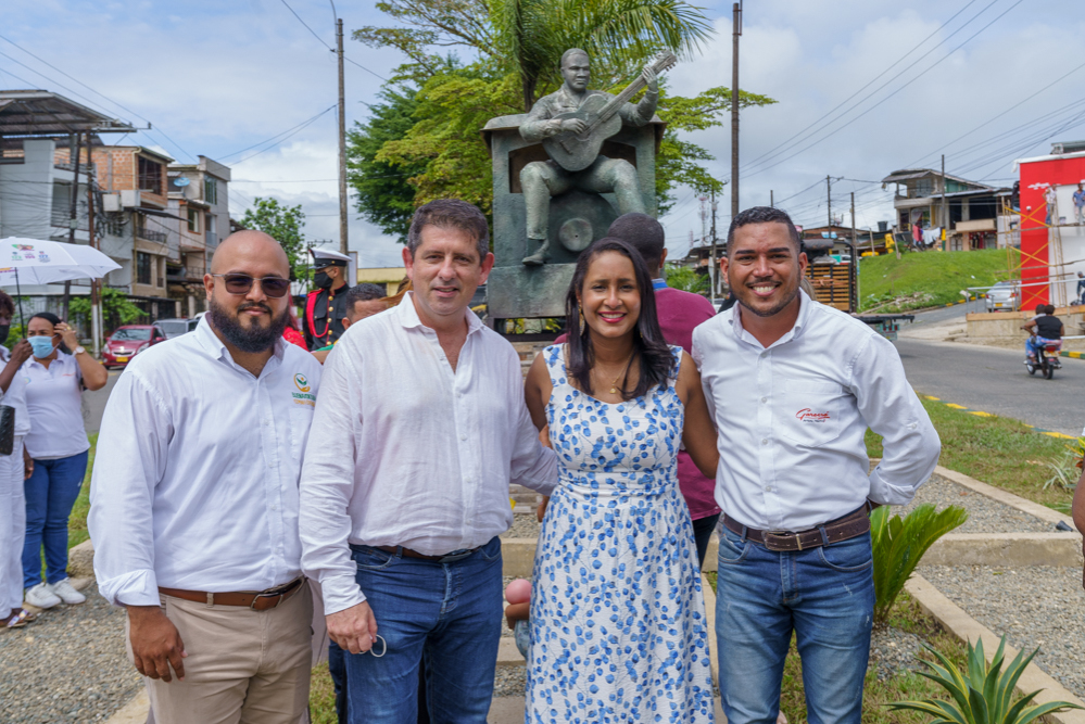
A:
MULTIPOLYGON (((550 96, 540 98, 528 114, 528 119, 520 125, 523 140, 538 142, 564 131, 582 134, 588 129, 583 120, 563 120, 555 116, 576 111, 591 96, 609 98, 603 91, 588 90, 591 79, 590 62, 588 53, 579 48, 571 48, 562 55, 562 76, 565 78, 562 87, 550 96)), ((644 98, 636 105, 626 103, 618 111, 622 122, 630 126, 643 126, 652 120, 659 100, 656 74, 651 66, 644 68, 642 77, 648 86, 644 98)), ((600 155, 595 163, 580 172, 566 170, 554 161, 533 161, 520 172, 520 187, 523 189, 523 203, 528 213, 528 247, 533 247, 535 242, 540 244, 535 253, 523 259, 523 264, 528 266, 546 262, 551 196, 573 189, 594 193, 613 192, 618 201, 619 214, 643 214, 646 211, 636 168, 622 158, 600 155)))

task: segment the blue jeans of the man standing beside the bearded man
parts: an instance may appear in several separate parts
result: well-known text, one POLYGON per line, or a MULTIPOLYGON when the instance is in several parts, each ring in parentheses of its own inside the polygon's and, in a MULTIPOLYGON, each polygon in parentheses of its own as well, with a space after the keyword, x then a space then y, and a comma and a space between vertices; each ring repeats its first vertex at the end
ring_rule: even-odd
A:
POLYGON ((380 658, 346 655, 351 724, 416 721, 422 657, 431 721, 484 724, 504 617, 500 538, 447 563, 351 548, 387 646, 380 658))

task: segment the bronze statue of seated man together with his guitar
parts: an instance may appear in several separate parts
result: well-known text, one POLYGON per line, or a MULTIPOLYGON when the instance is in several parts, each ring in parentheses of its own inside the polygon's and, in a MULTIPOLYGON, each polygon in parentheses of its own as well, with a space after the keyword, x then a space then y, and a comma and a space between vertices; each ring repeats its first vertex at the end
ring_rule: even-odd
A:
POLYGON ((539 247, 523 259, 528 266, 546 262, 548 251, 547 218, 551 196, 579 189, 594 193, 614 193, 618 213, 644 213, 636 169, 628 161, 600 155, 600 148, 621 130, 623 123, 643 126, 656 112, 659 97, 657 75, 676 62, 672 53, 644 67, 640 77, 618 96, 588 90, 591 67, 588 53, 571 48, 562 55, 562 87, 539 99, 528 119, 520 125, 526 141, 542 141, 550 161, 529 163, 520 172, 520 187, 527 206, 529 250, 539 247), (636 105, 629 99, 647 86, 636 105))

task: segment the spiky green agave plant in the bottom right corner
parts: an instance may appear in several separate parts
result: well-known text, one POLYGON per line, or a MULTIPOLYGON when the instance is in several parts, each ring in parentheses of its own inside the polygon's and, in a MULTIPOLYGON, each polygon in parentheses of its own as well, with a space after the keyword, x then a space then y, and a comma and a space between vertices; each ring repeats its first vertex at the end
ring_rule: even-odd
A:
POLYGON ((891 711, 923 712, 933 717, 932 724, 1029 724, 1046 714, 1082 709, 1069 701, 1032 704, 1032 700, 1039 694, 1038 690, 1013 701, 1013 687, 1025 666, 1039 651, 1038 648, 1027 657, 1023 650, 1019 651, 1006 671, 1002 671, 1006 636, 1002 636, 998 643, 998 650, 995 651, 989 664, 983 655, 983 642, 976 642, 975 648, 970 642, 967 675, 944 655, 930 646, 925 648, 942 665, 920 659, 930 671, 921 671, 919 674, 945 688, 950 700, 894 701, 886 704, 891 711))

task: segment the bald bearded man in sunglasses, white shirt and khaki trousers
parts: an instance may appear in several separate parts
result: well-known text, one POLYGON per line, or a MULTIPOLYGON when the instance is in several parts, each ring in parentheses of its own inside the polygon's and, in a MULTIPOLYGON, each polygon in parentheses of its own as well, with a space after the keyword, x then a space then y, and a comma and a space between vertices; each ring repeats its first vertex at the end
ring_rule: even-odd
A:
POLYGON ((320 365, 282 340, 289 274, 272 237, 231 234, 199 327, 140 354, 105 407, 94 573, 156 724, 294 724, 308 704, 298 475, 320 365))

